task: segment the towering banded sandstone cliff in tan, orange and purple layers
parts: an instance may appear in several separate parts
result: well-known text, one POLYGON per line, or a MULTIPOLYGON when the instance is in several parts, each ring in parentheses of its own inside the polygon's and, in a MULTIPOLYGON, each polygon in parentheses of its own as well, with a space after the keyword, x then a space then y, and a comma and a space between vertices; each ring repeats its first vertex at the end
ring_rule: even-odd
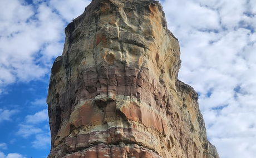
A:
POLYGON ((65 29, 47 103, 48 157, 219 157, 179 42, 153 0, 94 0, 65 29))

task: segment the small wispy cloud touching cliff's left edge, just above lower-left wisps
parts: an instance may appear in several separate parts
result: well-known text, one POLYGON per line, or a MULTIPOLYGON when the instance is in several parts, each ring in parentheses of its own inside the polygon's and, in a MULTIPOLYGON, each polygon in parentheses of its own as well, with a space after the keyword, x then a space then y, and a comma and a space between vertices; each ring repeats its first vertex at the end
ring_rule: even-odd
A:
POLYGON ((39 112, 36 112, 34 115, 28 115, 26 116, 26 122, 27 124, 39 124, 43 121, 48 120, 48 110, 42 110, 39 112))

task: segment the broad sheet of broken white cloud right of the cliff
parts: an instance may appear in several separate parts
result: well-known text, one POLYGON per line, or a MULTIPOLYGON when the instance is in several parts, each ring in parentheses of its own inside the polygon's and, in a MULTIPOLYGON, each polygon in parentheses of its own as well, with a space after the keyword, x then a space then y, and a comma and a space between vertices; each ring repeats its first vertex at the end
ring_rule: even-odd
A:
POLYGON ((169 29, 181 45, 179 79, 199 93, 208 137, 224 158, 256 157, 254 3, 163 2, 169 29))

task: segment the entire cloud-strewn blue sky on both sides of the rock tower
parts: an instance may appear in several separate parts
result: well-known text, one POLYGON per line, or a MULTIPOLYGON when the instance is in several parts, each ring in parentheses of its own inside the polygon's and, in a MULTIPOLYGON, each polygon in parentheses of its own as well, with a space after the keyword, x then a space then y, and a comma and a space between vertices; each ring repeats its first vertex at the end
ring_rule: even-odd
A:
MULTIPOLYGON (((0 1, 0 158, 46 157, 46 95, 64 28, 87 0, 0 1)), ((220 157, 256 157, 256 0, 161 1, 179 38, 179 79, 200 94, 220 157)))

